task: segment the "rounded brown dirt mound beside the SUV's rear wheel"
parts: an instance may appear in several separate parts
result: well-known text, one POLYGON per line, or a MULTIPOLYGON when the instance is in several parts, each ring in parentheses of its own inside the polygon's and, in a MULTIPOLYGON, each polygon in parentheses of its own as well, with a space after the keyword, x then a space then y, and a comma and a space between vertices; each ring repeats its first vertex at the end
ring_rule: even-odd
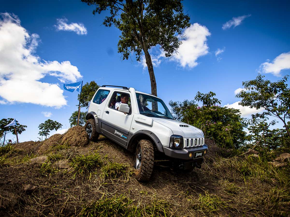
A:
POLYGON ((82 126, 70 128, 61 139, 61 143, 68 144, 68 146, 86 146, 88 142, 88 134, 82 126))

